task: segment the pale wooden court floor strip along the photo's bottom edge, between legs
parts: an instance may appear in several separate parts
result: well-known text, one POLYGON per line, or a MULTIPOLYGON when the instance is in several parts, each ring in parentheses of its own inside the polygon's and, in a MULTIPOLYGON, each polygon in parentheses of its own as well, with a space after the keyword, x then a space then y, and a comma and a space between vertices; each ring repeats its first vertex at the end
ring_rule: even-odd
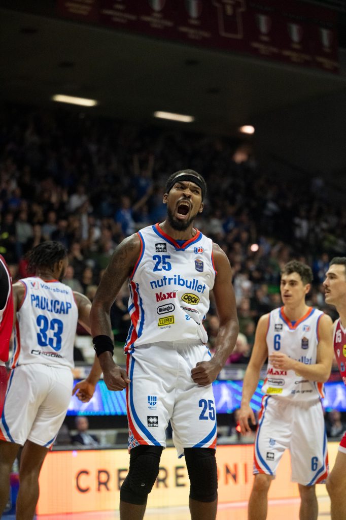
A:
MULTIPOLYGON (((318 498, 318 520, 330 520, 328 497, 318 498)), ((39 515, 37 520, 115 520, 117 511, 93 512, 65 515, 39 515)), ((299 499, 270 500, 267 520, 299 520, 299 499)), ((14 516, 4 516, 4 520, 15 520, 14 516)), ((187 507, 148 509, 144 520, 191 520, 187 507)), ((247 503, 220 504, 217 520, 247 520, 247 503)))

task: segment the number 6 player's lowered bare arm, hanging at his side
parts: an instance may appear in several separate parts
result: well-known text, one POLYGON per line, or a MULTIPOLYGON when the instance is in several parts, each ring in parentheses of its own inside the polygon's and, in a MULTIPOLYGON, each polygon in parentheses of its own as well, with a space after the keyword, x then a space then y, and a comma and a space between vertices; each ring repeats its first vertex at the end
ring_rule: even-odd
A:
POLYGON ((250 361, 244 376, 242 404, 239 412, 239 425, 243 434, 251 430, 249 419, 252 424, 256 424, 255 414, 250 407, 250 400, 257 388, 263 363, 268 357, 266 341, 268 321, 269 314, 261 316, 258 320, 254 348, 252 348, 250 361))

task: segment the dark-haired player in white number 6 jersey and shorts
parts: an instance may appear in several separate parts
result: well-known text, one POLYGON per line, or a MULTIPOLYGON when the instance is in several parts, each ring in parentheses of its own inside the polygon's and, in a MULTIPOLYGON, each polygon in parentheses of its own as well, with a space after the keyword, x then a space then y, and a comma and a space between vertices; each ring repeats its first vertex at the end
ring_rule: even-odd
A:
POLYGON ((331 319, 305 303, 310 267, 288 262, 281 276, 283 307, 259 319, 254 349, 245 372, 239 424, 242 433, 255 424, 250 399, 268 357, 264 397, 255 439, 249 520, 265 520, 268 491, 278 463, 290 450, 292 481, 298 483, 300 520, 316 520, 315 484, 328 474, 327 439, 321 397, 332 363, 331 319))

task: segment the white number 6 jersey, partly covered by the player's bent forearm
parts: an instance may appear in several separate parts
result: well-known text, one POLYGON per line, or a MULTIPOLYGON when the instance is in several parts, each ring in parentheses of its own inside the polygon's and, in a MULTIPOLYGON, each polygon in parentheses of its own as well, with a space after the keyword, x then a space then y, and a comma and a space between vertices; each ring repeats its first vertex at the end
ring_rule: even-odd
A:
MULTIPOLYGON (((267 332, 268 355, 275 352, 286 354, 305 365, 316 363, 318 322, 321 310, 309 307, 307 313, 295 322, 289 321, 284 307, 271 311, 267 332)), ((268 363, 267 377, 262 391, 275 397, 289 397, 297 401, 314 401, 324 397, 323 383, 308 381, 294 370, 278 370, 268 363)))

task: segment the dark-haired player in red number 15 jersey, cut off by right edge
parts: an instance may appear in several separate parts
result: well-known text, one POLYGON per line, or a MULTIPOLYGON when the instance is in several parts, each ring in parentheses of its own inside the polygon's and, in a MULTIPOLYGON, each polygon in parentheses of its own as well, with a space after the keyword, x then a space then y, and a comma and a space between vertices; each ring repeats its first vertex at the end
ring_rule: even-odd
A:
MULTIPOLYGON (((346 257, 332 258, 323 282, 326 303, 334 305, 339 318, 333 326, 335 358, 340 375, 346 384, 346 257)), ((327 478, 331 501, 331 520, 344 520, 346 516, 346 434, 342 437, 334 467, 327 478)))

